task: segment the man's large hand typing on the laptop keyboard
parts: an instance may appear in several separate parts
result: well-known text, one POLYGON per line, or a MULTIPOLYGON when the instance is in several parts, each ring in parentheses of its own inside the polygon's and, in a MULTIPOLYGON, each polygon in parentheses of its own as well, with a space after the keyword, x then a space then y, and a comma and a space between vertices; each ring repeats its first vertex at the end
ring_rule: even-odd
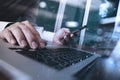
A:
POLYGON ((11 44, 18 43, 21 47, 30 46, 33 49, 44 48, 46 42, 43 41, 29 21, 16 22, 2 32, 0 32, 0 38, 5 39, 11 44))

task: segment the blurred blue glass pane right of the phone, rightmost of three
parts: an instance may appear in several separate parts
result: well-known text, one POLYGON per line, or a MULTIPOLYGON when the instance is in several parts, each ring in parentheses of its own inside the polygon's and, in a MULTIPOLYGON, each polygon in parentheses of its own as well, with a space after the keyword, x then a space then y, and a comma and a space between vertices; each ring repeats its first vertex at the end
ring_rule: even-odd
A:
POLYGON ((82 48, 102 54, 110 53, 116 45, 111 40, 119 0, 92 0, 87 30, 82 48))

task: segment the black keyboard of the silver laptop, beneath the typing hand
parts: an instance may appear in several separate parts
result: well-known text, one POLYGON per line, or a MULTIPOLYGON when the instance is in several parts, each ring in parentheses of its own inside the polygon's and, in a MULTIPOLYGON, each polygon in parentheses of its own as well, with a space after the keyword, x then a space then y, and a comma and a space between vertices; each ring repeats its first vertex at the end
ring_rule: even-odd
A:
POLYGON ((57 70, 61 70, 70 65, 81 62, 82 60, 92 56, 93 54, 78 51, 72 48, 57 48, 57 49, 22 49, 10 48, 17 53, 32 58, 38 62, 46 64, 57 70))

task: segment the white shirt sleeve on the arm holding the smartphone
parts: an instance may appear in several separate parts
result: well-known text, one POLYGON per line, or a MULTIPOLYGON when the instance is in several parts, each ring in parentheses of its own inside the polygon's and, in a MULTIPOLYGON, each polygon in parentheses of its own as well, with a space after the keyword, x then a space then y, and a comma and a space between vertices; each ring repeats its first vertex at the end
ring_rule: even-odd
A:
POLYGON ((43 40, 48 41, 48 42, 53 42, 55 33, 49 32, 49 31, 44 31, 43 27, 35 27, 35 28, 39 32, 39 34, 43 40))

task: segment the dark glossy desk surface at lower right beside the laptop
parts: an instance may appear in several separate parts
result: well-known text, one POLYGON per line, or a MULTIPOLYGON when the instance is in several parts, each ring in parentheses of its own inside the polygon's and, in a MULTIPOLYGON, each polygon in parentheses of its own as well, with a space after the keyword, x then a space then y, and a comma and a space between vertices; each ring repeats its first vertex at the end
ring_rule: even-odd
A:
POLYGON ((75 75, 77 80, 120 80, 120 61, 101 57, 91 65, 75 75))

